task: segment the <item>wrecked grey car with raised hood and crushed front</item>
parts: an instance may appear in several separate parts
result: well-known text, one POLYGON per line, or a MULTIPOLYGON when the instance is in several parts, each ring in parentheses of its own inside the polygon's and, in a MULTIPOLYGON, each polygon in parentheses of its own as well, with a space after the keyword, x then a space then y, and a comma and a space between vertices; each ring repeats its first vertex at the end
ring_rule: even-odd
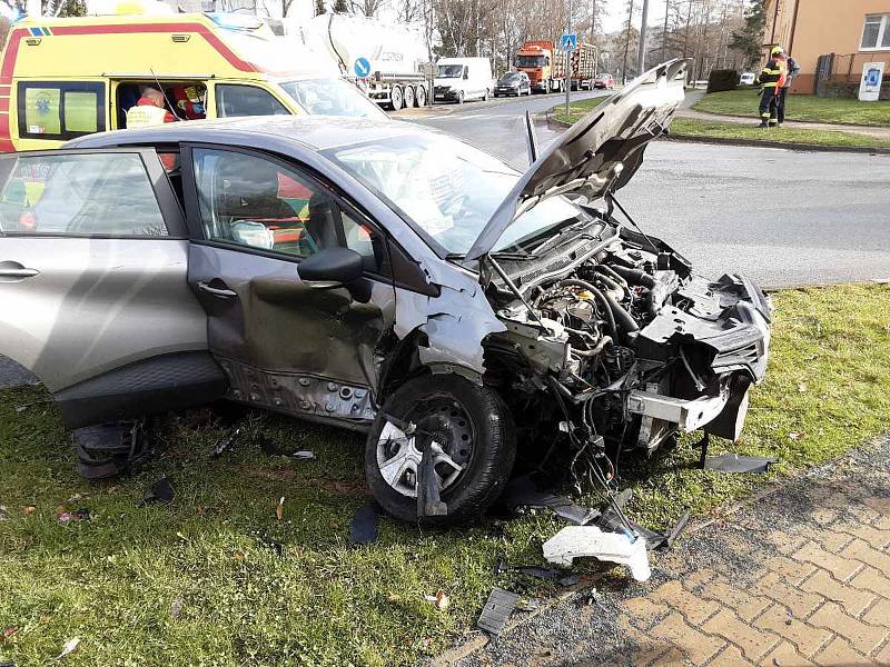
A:
POLYGON ((611 213, 684 74, 645 72, 525 173, 416 125, 323 117, 2 156, 0 354, 79 429, 86 472, 139 455, 121 420, 226 398, 366 431, 374 497, 411 521, 478 517, 517 440, 605 477, 681 431, 734 440, 767 297, 611 213))

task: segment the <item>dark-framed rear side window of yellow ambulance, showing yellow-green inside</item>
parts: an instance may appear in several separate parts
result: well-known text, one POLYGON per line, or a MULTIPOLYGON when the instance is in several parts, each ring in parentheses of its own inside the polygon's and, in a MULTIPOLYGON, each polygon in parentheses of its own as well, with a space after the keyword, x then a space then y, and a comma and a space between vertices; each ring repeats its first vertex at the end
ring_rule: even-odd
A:
POLYGON ((73 139, 106 129, 103 83, 23 81, 18 98, 22 138, 73 139))

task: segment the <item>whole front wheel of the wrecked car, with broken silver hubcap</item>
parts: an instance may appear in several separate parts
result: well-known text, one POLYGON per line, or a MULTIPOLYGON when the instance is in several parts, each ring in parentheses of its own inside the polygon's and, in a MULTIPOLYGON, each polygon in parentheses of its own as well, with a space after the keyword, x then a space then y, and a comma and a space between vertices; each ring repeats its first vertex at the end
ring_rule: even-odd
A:
POLYGON ((390 515, 417 521, 417 481, 424 451, 435 442, 434 470, 449 526, 482 516, 510 479, 516 458, 513 419, 501 397, 456 375, 408 380, 377 414, 365 445, 374 498, 390 515), (406 434, 407 425, 413 432, 406 434))

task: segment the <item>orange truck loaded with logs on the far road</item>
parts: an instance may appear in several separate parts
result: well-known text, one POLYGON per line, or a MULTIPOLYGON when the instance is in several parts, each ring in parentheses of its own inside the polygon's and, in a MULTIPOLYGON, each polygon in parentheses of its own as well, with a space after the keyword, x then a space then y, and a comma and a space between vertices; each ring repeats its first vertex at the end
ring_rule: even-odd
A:
POLYGON ((534 91, 565 90, 570 81, 573 90, 591 89, 596 78, 596 47, 578 42, 571 57, 570 77, 565 72, 565 52, 548 39, 525 42, 516 52, 513 64, 517 71, 528 74, 534 91))

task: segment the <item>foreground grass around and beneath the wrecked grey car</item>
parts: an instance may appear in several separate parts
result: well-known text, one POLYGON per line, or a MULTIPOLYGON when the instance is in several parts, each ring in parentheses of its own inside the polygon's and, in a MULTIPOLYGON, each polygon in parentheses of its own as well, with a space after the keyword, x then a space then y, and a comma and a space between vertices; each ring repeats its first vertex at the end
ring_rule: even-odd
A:
MULTIPOLYGON (((882 434, 890 414, 890 287, 789 290, 774 303, 770 371, 736 447, 779 457, 772 477, 882 434)), ((89 484, 56 409, 20 409, 44 398, 0 391, 0 661, 46 664, 79 637, 67 665, 398 665, 471 628, 495 583, 553 594, 492 575, 501 550, 512 564, 540 561, 561 526, 547 514, 425 532, 382 518, 377 542, 349 548, 366 501, 360 437, 267 417, 248 430, 316 459, 268 456, 248 434, 212 460, 222 430, 190 411, 165 419, 164 452, 140 472, 89 484), (138 508, 162 475, 175 501, 138 508), (81 508, 89 518, 59 520, 81 508), (438 588, 447 609, 424 599, 438 588)), ((698 470, 696 459, 684 440, 626 467, 632 516, 662 527, 764 481, 698 470)))

